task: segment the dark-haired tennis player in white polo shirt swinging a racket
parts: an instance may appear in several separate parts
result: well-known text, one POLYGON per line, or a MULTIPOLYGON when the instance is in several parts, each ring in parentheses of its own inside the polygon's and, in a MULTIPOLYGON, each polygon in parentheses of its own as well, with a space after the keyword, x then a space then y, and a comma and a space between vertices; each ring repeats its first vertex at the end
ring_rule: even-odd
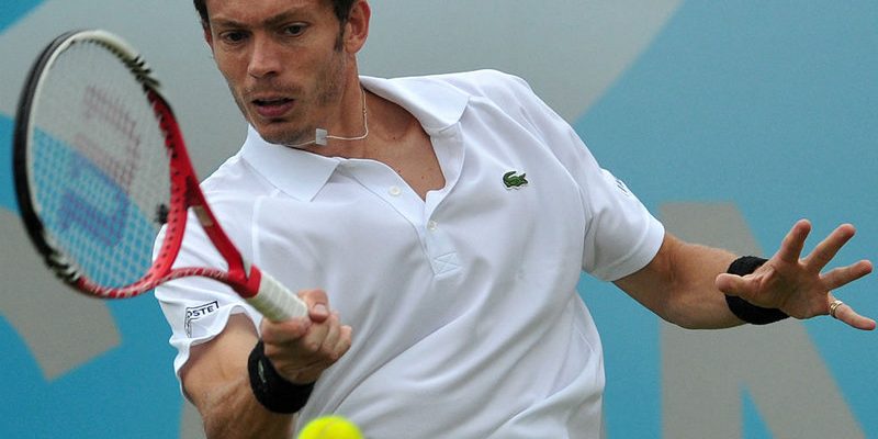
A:
MULTIPOLYGON (((211 281, 157 290, 209 437, 289 438, 329 413, 370 438, 601 437, 582 271, 686 328, 875 328, 832 294, 873 269, 826 269, 851 225, 801 255, 801 221, 767 260, 683 243, 521 79, 361 77, 365 0, 194 3, 250 125, 204 192, 309 306, 270 323, 211 281)), ((180 259, 222 263, 196 234, 180 259)))

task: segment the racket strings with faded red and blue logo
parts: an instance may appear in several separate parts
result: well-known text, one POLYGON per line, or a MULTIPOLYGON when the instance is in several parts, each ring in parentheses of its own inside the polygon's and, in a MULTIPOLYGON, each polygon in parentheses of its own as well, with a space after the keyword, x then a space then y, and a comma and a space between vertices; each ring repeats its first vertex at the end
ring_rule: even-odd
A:
POLYGON ((44 72, 32 116, 31 184, 45 233, 66 255, 58 264, 112 288, 147 273, 170 204, 144 71, 137 58, 74 44, 44 72))

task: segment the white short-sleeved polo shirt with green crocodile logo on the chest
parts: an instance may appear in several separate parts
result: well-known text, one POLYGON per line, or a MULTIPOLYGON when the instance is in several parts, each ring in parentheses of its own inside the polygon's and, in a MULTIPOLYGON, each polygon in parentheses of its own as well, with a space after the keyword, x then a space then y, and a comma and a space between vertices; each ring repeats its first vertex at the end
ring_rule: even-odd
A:
MULTIPOLYGON (((520 79, 496 71, 363 86, 424 126, 446 187, 421 200, 391 168, 270 145, 250 128, 203 183, 245 257, 292 291, 320 288, 353 344, 302 425, 329 413, 370 438, 593 438, 604 431, 600 340, 582 270, 616 280, 662 225, 598 167, 520 79)), ((223 266, 200 232, 179 264, 223 266)), ((227 288, 158 288, 179 353, 260 316, 227 288)))

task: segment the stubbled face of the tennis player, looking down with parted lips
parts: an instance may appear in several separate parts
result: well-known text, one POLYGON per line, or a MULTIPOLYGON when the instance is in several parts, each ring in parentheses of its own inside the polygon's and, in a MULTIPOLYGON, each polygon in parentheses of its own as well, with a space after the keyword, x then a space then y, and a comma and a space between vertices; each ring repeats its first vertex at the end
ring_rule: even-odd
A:
POLYGON ((216 66, 268 142, 314 138, 337 117, 348 54, 325 0, 207 0, 216 66))

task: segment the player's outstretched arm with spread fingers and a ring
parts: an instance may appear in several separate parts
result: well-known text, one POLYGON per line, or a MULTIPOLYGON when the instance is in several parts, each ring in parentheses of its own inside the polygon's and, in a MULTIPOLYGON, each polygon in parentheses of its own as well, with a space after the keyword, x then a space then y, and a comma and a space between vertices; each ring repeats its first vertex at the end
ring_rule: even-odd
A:
MULTIPOLYGON (((854 236, 854 227, 842 225, 814 250, 801 257, 811 230, 798 222, 780 249, 752 274, 727 274, 736 258, 728 251, 684 243, 667 235, 653 260, 640 271, 616 281, 634 300, 667 322, 686 328, 722 328, 740 325, 724 294, 740 296, 766 308, 779 308, 796 318, 829 314, 835 300, 832 290, 871 272, 871 262, 822 270, 854 236)), ((858 329, 875 329, 875 322, 842 305, 835 316, 858 329)))

